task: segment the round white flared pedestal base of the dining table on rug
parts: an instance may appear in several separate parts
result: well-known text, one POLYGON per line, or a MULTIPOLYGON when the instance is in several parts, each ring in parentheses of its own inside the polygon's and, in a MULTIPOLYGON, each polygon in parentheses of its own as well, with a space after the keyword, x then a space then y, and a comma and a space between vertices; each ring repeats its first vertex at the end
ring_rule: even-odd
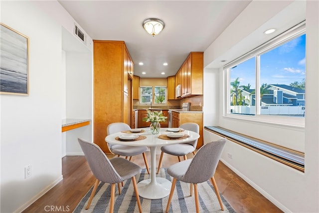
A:
POLYGON ((147 179, 138 183, 139 195, 146 199, 162 199, 169 195, 171 183, 164 178, 147 179))

